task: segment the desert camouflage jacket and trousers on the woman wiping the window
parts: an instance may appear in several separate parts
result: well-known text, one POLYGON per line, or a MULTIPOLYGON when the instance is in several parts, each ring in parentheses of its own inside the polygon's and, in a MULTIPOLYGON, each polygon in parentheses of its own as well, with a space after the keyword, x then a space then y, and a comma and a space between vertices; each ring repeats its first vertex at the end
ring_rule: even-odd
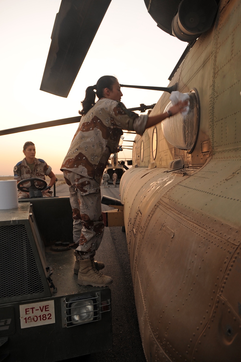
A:
POLYGON ((107 98, 81 118, 61 171, 70 190, 74 242, 79 237, 76 250, 83 259, 95 255, 103 236, 100 183, 109 157, 117 152, 122 129, 142 135, 147 119, 107 98))

